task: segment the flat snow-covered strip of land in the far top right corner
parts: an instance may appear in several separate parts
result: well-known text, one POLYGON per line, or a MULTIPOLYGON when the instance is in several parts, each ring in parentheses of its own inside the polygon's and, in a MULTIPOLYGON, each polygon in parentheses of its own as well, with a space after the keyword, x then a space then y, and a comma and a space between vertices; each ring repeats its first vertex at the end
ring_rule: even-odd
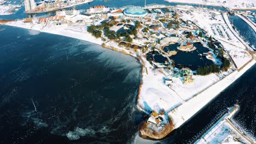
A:
POLYGON ((167 2, 213 5, 231 9, 256 9, 255 0, 166 0, 167 2))

